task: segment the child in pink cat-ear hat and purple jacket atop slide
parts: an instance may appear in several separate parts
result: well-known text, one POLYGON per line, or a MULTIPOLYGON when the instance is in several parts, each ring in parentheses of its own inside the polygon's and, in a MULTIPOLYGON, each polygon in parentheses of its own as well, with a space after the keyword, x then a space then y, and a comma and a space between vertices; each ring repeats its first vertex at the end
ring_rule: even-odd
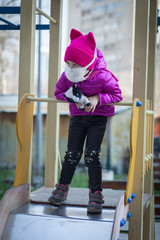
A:
POLYGON ((65 52, 65 71, 56 85, 55 97, 67 101, 65 94, 74 83, 88 97, 90 106, 80 110, 80 104, 69 103, 71 114, 68 131, 68 149, 56 190, 49 201, 60 206, 66 200, 69 185, 76 166, 81 159, 85 146, 85 164, 89 174, 89 213, 101 213, 103 196, 101 188, 100 148, 106 129, 107 117, 114 115, 114 106, 109 103, 122 100, 118 79, 107 69, 101 52, 96 49, 96 42, 90 32, 83 35, 72 29, 71 43, 65 52))

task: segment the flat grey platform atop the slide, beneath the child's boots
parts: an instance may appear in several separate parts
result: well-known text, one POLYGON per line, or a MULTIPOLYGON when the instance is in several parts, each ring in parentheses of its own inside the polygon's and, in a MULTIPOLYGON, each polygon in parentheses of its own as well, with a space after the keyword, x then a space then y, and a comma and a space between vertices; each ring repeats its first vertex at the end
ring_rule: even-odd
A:
MULTIPOLYGON (((52 191, 53 188, 41 187, 31 192, 30 201, 32 203, 49 203, 48 198, 50 197, 52 191)), ((125 193, 125 191, 104 189, 102 193, 105 201, 103 208, 116 208, 120 198, 125 193)), ((70 188, 67 200, 63 203, 63 205, 86 207, 88 205, 88 200, 88 188, 70 188)))

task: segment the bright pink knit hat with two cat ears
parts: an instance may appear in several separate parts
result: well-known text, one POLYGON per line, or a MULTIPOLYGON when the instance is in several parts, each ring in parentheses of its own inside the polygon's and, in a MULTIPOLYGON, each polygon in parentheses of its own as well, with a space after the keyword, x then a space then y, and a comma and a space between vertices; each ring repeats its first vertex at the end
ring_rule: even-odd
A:
MULTIPOLYGON (((76 29, 72 29, 70 33, 71 43, 67 47, 64 61, 72 61, 81 67, 86 67, 95 57, 96 42, 92 32, 83 35, 76 29)), ((87 69, 91 70, 95 63, 92 63, 87 69)))

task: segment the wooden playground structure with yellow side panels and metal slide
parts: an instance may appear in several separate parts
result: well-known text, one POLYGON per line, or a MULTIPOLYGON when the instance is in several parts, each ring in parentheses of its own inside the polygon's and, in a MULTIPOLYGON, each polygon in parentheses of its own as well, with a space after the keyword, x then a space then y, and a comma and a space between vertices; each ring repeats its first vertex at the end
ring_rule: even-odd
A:
POLYGON ((22 238, 23 232, 23 239, 98 237, 117 240, 120 227, 131 216, 129 239, 155 239, 153 116, 157 1, 135 0, 133 102, 117 103, 132 105, 131 159, 127 188, 125 192, 104 189, 105 205, 101 216, 86 214, 86 189, 71 188, 68 200, 59 209, 51 206, 47 200, 57 181, 59 156, 59 102, 53 99, 53 91, 59 76, 61 7, 61 1, 51 0, 51 17, 38 10, 50 19, 48 98, 38 99, 32 94, 36 1, 21 1, 19 108, 16 124, 20 151, 14 186, 0 202, 0 237, 18 240, 22 238), (137 106, 137 98, 142 102, 140 108, 137 106), (47 145, 45 186, 30 194, 30 146, 34 101, 48 102, 47 145), (62 225, 65 231, 60 228, 62 225), (97 231, 94 231, 94 228, 97 231))

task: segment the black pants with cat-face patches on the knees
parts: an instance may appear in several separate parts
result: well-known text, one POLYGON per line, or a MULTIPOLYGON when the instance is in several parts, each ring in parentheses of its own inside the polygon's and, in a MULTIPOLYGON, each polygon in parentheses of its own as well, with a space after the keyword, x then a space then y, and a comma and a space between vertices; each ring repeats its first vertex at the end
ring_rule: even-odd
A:
POLYGON ((85 163, 88 167, 89 188, 101 191, 100 147, 106 129, 107 117, 97 115, 72 116, 68 131, 68 151, 65 155, 61 176, 61 184, 70 184, 78 162, 80 161, 84 141, 85 163))

